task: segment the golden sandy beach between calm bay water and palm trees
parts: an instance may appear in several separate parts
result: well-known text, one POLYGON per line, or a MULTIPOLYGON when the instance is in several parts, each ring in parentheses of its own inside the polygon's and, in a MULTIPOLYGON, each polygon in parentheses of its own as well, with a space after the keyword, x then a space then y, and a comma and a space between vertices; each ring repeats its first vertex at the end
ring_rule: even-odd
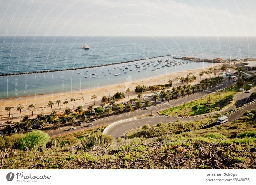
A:
MULTIPOLYGON (((166 84, 169 79, 173 80, 176 76, 186 76, 188 73, 192 72, 193 75, 196 76, 196 81, 194 81, 192 84, 196 84, 200 81, 199 72, 203 70, 208 70, 210 67, 216 67, 219 68, 220 63, 212 63, 211 66, 207 66, 205 68, 199 68, 199 69, 192 69, 192 70, 186 70, 181 72, 175 72, 170 74, 162 74, 158 75, 156 77, 152 78, 144 78, 139 80, 127 80, 126 82, 116 85, 109 85, 109 86, 100 86, 98 88, 92 88, 92 89, 80 89, 72 92, 65 92, 65 93, 52 93, 52 94, 43 94, 43 95, 34 95, 34 96, 27 96, 27 97, 20 97, 20 98, 11 98, 11 99, 2 99, 0 102, 0 118, 2 116, 1 123, 4 123, 8 121, 8 112, 6 112, 4 109, 7 106, 13 107, 10 111, 11 113, 11 120, 12 122, 20 121, 20 112, 16 111, 16 108, 20 105, 24 107, 22 110, 22 116, 24 115, 30 115, 32 117, 31 108, 28 108, 28 105, 35 104, 35 107, 33 108, 34 117, 36 117, 37 114, 43 113, 44 115, 50 114, 51 107, 47 106, 49 101, 52 101, 54 103, 53 110, 59 111, 58 104, 55 104, 56 100, 61 100, 60 103, 60 112, 63 112, 65 110, 65 105, 63 104, 64 101, 68 101, 67 108, 73 109, 72 101, 70 101, 71 98, 76 99, 74 102, 74 109, 82 105, 84 109, 86 109, 89 105, 93 105, 93 99, 91 99, 92 95, 96 95, 97 99, 95 100, 95 107, 99 107, 101 103, 102 96, 112 96, 115 92, 125 92, 126 88, 130 87, 131 94, 129 94, 129 98, 136 98, 137 93, 135 93, 134 88, 137 84, 150 86, 150 85, 158 85, 158 84, 166 84), (13 118, 17 117, 17 118, 13 118)), ((216 76, 219 75, 219 70, 216 71, 216 76)), ((212 77, 214 77, 214 73, 212 73, 212 77)), ((181 83, 178 82, 178 85, 181 83)), ((176 86, 176 81, 173 81, 173 86, 176 86)), ((145 92, 144 95, 152 95, 150 91, 145 92)), ((127 101, 128 95, 126 94, 126 98, 121 100, 121 102, 127 101)))

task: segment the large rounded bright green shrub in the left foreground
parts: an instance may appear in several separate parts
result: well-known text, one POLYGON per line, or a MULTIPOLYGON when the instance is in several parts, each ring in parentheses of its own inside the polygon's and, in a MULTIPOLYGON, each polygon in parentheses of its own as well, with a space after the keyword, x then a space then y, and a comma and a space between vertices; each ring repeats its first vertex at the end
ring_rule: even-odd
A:
POLYGON ((44 149, 49 139, 50 136, 41 130, 32 131, 25 134, 25 136, 19 140, 19 148, 21 150, 44 149))

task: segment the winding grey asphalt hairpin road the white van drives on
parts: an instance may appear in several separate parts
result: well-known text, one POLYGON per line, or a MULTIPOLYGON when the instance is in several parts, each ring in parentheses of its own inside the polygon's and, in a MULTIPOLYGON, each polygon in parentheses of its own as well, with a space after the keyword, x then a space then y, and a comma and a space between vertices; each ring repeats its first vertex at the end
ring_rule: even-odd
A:
MULTIPOLYGON (((251 93, 253 93, 255 91, 251 91, 251 93)), ((235 107, 239 107, 241 104, 244 104, 244 98, 249 97, 251 95, 251 93, 240 93, 238 95, 235 96, 235 105, 229 107, 228 109, 226 109, 225 111, 231 110, 235 107)), ((234 120, 237 119, 239 117, 241 117, 244 113, 245 110, 251 110, 256 108, 256 104, 253 103, 250 106, 244 107, 243 109, 240 109, 239 111, 236 111, 236 113, 233 113, 231 115, 228 115, 228 120, 234 120)), ((145 124, 149 124, 149 125, 156 125, 160 122, 162 123, 169 123, 169 122, 175 122, 176 120, 182 120, 182 121, 194 121, 194 120, 198 120, 198 119, 202 119, 202 118, 170 118, 170 117, 150 117, 150 118, 143 118, 143 119, 136 119, 136 120, 132 120, 132 121, 126 121, 126 122, 121 122, 118 124, 113 125, 112 127, 110 127, 106 134, 113 136, 115 138, 117 137, 124 137, 125 134, 135 128, 139 128, 144 126, 145 124)))

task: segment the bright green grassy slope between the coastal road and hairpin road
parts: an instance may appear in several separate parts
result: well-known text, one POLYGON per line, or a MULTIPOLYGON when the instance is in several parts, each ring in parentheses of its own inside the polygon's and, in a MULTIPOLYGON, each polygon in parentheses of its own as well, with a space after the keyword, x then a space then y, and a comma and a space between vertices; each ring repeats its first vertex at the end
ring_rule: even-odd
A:
POLYGON ((223 89, 220 92, 212 93, 210 96, 207 95, 203 98, 191 101, 189 103, 185 103, 185 105, 180 105, 159 111, 159 113, 160 115, 167 116, 194 116, 208 112, 214 112, 218 109, 223 108, 229 102, 231 102, 233 100, 233 95, 237 92, 239 92, 239 87, 227 87, 226 89, 223 89), (211 100, 211 102, 208 107, 205 107, 207 100, 211 100))

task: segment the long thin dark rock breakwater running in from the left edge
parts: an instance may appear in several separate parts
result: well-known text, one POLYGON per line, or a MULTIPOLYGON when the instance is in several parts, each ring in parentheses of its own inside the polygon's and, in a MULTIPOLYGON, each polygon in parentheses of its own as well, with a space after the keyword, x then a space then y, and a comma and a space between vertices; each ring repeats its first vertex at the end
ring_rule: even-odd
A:
POLYGON ((103 67, 103 66, 129 63, 129 62, 135 62, 135 61, 152 59, 152 58, 165 57, 165 56, 172 56, 172 55, 155 56, 155 57, 150 57, 150 58, 142 58, 142 59, 136 59, 136 60, 130 60, 130 61, 124 61, 124 62, 109 63, 109 64, 102 64, 102 65, 95 65, 95 66, 86 66, 86 67, 77 67, 77 68, 69 68, 69 69, 61 69, 61 70, 34 71, 34 72, 26 72, 26 73, 7 73, 7 74, 0 74, 0 76, 25 75, 25 74, 34 74, 34 73, 49 73, 49 72, 56 72, 56 71, 68 71, 68 70, 78 70, 78 69, 86 69, 86 68, 94 68, 94 67, 103 67))

